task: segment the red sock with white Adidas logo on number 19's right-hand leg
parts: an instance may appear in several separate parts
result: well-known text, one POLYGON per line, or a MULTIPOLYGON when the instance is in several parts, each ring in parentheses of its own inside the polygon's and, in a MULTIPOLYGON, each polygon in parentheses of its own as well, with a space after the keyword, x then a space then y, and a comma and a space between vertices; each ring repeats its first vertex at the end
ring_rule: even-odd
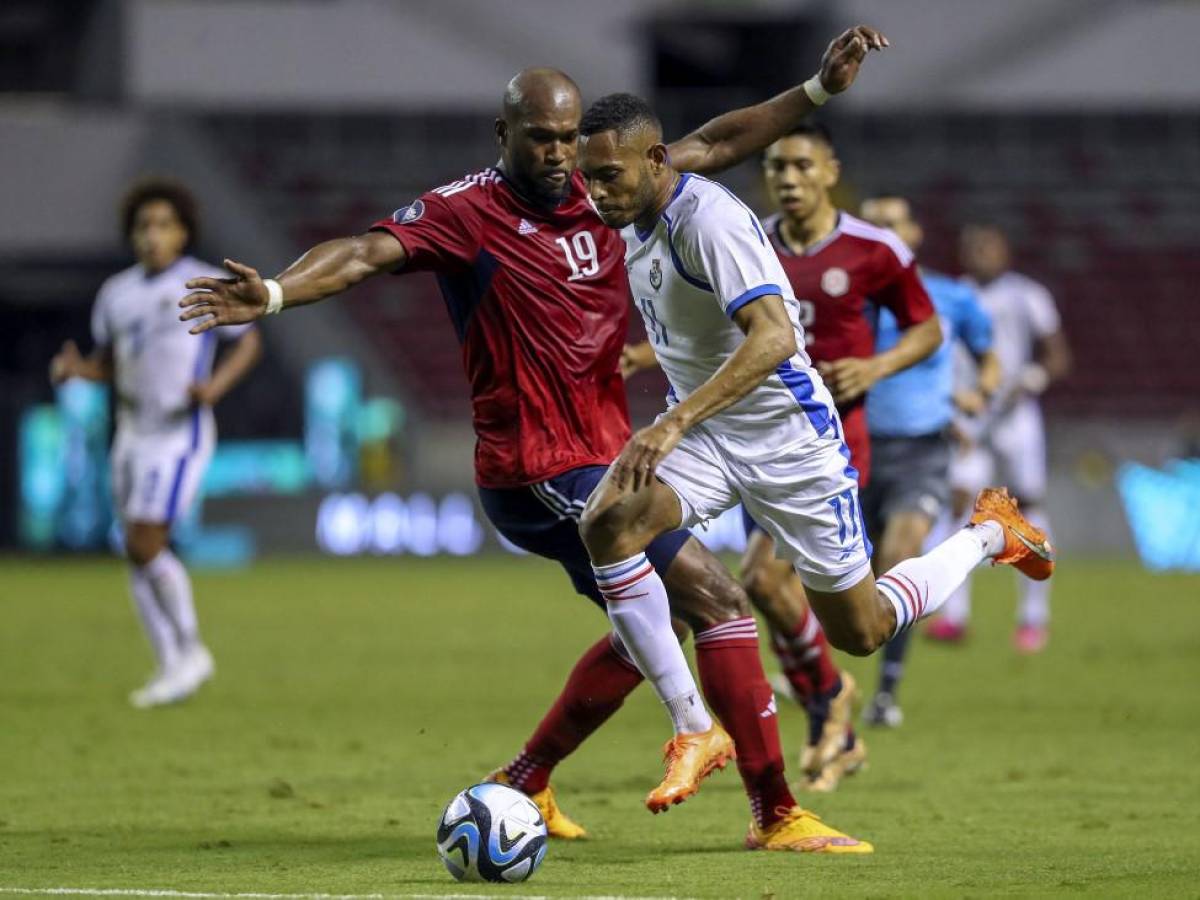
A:
POLYGON ((768 826, 779 818, 775 810, 790 810, 796 798, 784 775, 775 695, 762 671, 755 620, 733 619, 697 632, 696 667, 704 698, 737 745, 755 821, 768 826))

